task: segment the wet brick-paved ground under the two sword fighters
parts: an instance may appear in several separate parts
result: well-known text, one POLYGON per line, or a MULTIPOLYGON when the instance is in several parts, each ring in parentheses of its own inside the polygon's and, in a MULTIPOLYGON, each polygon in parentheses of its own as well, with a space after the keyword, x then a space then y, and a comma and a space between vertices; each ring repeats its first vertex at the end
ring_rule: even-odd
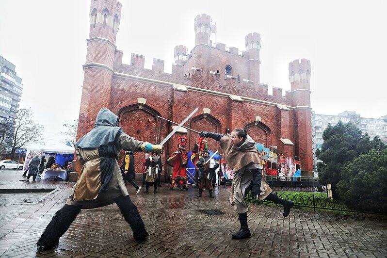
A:
POLYGON ((56 191, 31 195, 0 193, 1 257, 387 257, 387 221, 250 204, 251 238, 232 240, 239 230, 237 213, 228 203, 230 187, 216 188, 198 198, 197 189, 135 194, 127 184, 149 233, 137 242, 113 204, 82 210, 52 250, 38 252, 35 243, 54 213, 62 208, 73 183, 19 181, 23 171, 1 170, 0 189, 56 191), (220 192, 220 193, 219 193, 220 192), (22 197, 24 196, 24 197, 22 197), (23 202, 24 199, 32 203, 23 202), (6 204, 3 202, 7 202, 6 204), (210 215, 201 210, 220 210, 210 215))

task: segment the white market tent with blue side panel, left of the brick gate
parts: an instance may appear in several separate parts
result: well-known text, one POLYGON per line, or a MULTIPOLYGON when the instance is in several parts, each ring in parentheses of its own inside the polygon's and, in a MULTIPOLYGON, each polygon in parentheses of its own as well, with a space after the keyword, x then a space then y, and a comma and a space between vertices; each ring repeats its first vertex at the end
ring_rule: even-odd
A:
POLYGON ((74 152, 74 147, 65 144, 30 146, 27 147, 27 155, 24 164, 28 164, 34 155, 38 154, 40 156, 42 153, 45 153, 48 156, 55 155, 55 162, 63 165, 64 161, 74 158, 74 152))

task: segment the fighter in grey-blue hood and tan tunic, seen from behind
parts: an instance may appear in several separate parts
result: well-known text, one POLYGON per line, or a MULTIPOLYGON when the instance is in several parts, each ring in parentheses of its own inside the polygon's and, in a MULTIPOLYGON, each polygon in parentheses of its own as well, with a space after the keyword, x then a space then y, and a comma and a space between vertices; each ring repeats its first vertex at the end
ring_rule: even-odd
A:
POLYGON ((75 144, 77 158, 84 164, 66 204, 55 213, 37 242, 40 250, 57 245, 81 209, 102 207, 113 202, 129 223, 136 240, 144 240, 148 236, 137 207, 129 198, 117 160, 121 149, 161 152, 162 146, 135 140, 117 127, 118 123, 115 114, 102 108, 93 129, 75 144))

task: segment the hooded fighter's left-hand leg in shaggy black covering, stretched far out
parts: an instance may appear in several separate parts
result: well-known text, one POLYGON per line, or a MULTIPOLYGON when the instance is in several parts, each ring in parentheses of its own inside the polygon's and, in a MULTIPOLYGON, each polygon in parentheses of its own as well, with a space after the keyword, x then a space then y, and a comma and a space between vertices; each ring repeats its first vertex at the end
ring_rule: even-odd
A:
POLYGON ((68 204, 58 210, 36 243, 38 249, 44 251, 56 246, 59 243, 59 238, 67 231, 80 211, 81 206, 68 204))

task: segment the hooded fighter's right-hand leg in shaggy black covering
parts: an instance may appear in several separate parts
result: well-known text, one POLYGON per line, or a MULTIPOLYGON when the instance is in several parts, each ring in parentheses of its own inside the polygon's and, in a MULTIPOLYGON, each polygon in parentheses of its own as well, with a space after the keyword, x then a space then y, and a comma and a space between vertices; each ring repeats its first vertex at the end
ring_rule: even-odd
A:
POLYGON ((129 195, 121 195, 114 198, 114 202, 120 208, 122 215, 132 228, 134 239, 137 241, 146 239, 148 233, 145 230, 144 222, 141 219, 140 213, 138 213, 137 207, 130 200, 129 195))

